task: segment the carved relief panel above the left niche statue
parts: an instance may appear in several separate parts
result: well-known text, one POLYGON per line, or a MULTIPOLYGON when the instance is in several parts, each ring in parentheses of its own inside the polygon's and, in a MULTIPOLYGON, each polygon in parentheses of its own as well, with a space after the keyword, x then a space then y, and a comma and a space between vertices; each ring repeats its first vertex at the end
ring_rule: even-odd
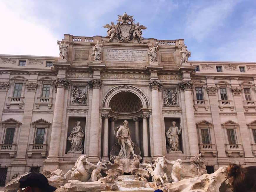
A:
POLYGON ((88 86, 72 85, 70 105, 87 105, 88 86))

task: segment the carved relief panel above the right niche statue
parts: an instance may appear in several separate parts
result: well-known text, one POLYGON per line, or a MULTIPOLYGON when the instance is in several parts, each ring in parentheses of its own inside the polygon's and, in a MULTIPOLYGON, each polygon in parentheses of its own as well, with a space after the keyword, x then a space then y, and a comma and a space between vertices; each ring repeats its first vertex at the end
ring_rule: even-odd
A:
POLYGON ((163 106, 176 107, 179 106, 177 88, 163 87, 163 106))

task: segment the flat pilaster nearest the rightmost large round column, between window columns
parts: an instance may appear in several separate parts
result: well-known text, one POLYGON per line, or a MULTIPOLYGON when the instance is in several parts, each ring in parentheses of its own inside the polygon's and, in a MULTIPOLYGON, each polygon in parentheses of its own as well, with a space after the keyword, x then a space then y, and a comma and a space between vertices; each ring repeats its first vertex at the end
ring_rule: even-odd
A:
POLYGON ((207 92, 209 96, 209 103, 212 112, 212 122, 213 122, 213 131, 215 135, 216 148, 218 152, 218 162, 225 163, 227 161, 225 153, 225 139, 223 137, 223 131, 220 124, 219 116, 219 103, 217 98, 217 87, 216 86, 207 86, 207 92))

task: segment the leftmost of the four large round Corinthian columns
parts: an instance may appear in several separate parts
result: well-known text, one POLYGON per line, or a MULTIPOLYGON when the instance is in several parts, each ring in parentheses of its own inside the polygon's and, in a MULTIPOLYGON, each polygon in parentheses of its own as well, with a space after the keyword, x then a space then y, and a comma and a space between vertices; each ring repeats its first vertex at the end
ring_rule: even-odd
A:
POLYGON ((61 125, 63 117, 63 104, 64 104, 64 90, 65 87, 69 86, 71 81, 68 81, 66 78, 56 78, 55 87, 57 89, 54 113, 52 119, 52 128, 51 128, 51 143, 49 148, 49 156, 47 160, 53 160, 58 162, 59 156, 59 145, 61 137, 61 125))

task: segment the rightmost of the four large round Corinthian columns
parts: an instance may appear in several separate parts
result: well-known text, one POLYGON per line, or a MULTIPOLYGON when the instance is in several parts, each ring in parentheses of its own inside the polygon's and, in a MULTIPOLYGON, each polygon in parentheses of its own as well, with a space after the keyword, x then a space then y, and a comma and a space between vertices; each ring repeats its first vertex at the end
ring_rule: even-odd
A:
POLYGON ((197 128, 196 128, 194 108, 193 108, 193 99, 191 94, 193 83, 183 81, 178 85, 180 89, 184 90, 190 155, 197 156, 197 154, 199 153, 199 148, 198 148, 197 128))

